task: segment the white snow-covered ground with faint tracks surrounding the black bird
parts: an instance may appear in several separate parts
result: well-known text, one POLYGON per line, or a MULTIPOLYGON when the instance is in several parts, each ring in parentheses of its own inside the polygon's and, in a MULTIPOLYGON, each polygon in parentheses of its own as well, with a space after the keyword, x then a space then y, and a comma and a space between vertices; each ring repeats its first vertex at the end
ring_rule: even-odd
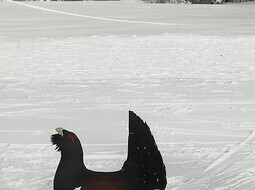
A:
POLYGON ((94 16, 179 23, 190 34, 178 25, 105 23, 2 2, 0 189, 52 189, 60 158, 50 144, 56 127, 78 134, 90 169, 119 169, 127 154, 129 109, 151 126, 167 166, 167 190, 254 189, 255 12, 249 10, 255 4, 105 2, 115 15, 110 17, 97 13, 98 2, 87 3, 29 4, 91 15, 81 11, 88 6, 94 16), (123 9, 119 17, 116 7, 123 9), (196 16, 178 20, 178 10, 164 19, 161 7, 200 14, 208 25, 198 27, 196 16), (205 9, 214 12, 209 15, 227 12, 227 26, 217 32, 223 24, 205 18, 205 9), (126 31, 117 30, 120 25, 126 31), (153 35, 142 35, 144 27, 153 35))

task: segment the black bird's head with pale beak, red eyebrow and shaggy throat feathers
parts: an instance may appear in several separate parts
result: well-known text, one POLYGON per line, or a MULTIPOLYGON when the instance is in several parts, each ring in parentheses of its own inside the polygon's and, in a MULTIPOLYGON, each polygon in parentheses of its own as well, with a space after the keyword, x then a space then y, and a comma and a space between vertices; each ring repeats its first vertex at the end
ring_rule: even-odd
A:
POLYGON ((69 156, 82 154, 82 146, 78 137, 70 131, 63 128, 56 129, 57 134, 51 136, 51 142, 56 145, 56 150, 61 151, 62 154, 68 154, 69 156))

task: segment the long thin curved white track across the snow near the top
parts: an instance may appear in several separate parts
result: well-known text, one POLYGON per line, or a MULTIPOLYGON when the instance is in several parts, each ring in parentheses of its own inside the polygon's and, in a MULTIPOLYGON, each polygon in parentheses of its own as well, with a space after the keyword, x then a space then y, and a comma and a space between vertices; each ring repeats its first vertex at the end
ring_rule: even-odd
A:
POLYGON ((82 15, 82 14, 58 11, 58 10, 55 10, 55 9, 43 8, 43 7, 39 7, 39 6, 35 6, 35 5, 29 5, 29 4, 26 4, 26 3, 17 2, 17 1, 13 1, 13 0, 6 0, 6 1, 10 2, 10 3, 17 4, 17 5, 33 8, 33 9, 42 10, 42 11, 47 11, 47 12, 52 12, 52 13, 57 13, 57 14, 62 14, 62 15, 81 17, 81 18, 87 18, 87 19, 94 19, 94 20, 131 23, 131 24, 164 25, 164 26, 182 25, 182 24, 173 24, 173 23, 164 23, 164 22, 145 22, 145 21, 136 21, 136 20, 122 20, 122 19, 112 19, 112 18, 105 18, 105 17, 89 16, 89 15, 82 15))

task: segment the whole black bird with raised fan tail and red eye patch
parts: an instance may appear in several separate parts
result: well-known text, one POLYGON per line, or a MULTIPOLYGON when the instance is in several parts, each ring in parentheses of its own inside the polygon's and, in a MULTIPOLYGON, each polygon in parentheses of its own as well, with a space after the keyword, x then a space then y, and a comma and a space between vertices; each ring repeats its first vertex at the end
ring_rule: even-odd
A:
POLYGON ((57 128, 51 137, 61 159, 54 190, 164 190, 166 168, 153 135, 146 123, 129 111, 128 156, 123 167, 115 172, 95 172, 83 162, 83 150, 78 137, 57 128))

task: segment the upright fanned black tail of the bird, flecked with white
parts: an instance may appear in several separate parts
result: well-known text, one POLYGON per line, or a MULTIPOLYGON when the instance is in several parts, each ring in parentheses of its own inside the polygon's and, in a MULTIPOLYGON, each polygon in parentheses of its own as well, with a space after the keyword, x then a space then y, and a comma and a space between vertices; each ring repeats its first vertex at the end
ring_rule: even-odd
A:
POLYGON ((153 135, 146 123, 129 111, 128 157, 123 170, 136 178, 139 190, 163 190, 166 168, 153 135))

